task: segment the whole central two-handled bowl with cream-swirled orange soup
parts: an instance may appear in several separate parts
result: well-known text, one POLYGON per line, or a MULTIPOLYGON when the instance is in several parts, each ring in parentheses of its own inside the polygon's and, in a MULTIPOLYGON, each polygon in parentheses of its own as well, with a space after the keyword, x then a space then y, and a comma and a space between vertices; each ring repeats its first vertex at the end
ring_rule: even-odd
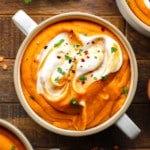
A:
POLYGON ((38 124, 69 136, 97 133, 113 123, 130 138, 140 132, 124 114, 136 90, 136 59, 117 28, 81 12, 37 25, 19 11, 13 21, 27 35, 15 61, 15 87, 38 124), (125 120, 132 132, 122 127, 125 120))

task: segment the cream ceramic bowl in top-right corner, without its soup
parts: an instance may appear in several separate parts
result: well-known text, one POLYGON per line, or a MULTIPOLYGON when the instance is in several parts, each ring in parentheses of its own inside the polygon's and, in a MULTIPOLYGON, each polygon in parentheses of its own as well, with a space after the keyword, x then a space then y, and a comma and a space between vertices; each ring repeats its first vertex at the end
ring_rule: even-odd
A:
POLYGON ((120 13, 125 20, 139 33, 150 37, 150 26, 144 24, 129 8, 126 0, 116 0, 120 13))

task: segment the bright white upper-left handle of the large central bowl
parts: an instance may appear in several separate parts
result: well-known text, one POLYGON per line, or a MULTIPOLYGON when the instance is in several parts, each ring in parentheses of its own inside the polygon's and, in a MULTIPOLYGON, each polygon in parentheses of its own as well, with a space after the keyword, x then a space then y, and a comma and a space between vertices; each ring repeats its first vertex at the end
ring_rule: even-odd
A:
POLYGON ((37 27, 37 23, 23 10, 17 11, 12 17, 12 20, 25 35, 28 35, 34 28, 37 27))

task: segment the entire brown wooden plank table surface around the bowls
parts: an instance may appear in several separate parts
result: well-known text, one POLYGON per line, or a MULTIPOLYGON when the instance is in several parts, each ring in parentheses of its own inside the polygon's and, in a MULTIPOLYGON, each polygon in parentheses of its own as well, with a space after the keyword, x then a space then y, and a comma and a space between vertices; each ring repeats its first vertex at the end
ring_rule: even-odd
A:
POLYGON ((115 0, 23 0, 0 1, 0 118, 8 120, 30 140, 35 150, 59 147, 61 150, 150 150, 150 103, 147 98, 147 80, 150 78, 150 38, 137 33, 122 18, 115 0), (16 96, 13 83, 14 60, 25 36, 13 24, 11 17, 19 9, 25 10, 37 23, 56 14, 82 11, 105 18, 117 26, 131 43, 138 62, 139 81, 135 98, 127 114, 141 128, 141 134, 128 139, 115 125, 87 137, 66 137, 49 132, 37 125, 24 111, 16 96), (8 66, 3 70, 3 65, 8 66))

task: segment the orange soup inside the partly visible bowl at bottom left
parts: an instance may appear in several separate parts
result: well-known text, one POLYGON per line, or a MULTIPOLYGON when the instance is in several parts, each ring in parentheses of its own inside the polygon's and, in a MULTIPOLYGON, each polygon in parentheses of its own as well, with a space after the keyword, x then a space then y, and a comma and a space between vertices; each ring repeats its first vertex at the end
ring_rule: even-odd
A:
POLYGON ((0 150, 26 150, 26 148, 13 133, 0 127, 0 150))

